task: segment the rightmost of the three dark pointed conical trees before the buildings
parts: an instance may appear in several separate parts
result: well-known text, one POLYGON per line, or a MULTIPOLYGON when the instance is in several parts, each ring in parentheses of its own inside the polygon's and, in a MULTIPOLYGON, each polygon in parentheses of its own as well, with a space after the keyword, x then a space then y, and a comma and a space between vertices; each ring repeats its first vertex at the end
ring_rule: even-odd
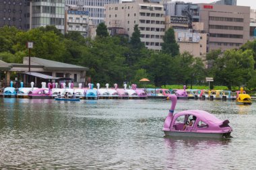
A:
POLYGON ((179 54, 179 44, 177 44, 174 36, 174 30, 169 28, 163 38, 162 52, 165 54, 171 54, 172 56, 177 56, 179 54))

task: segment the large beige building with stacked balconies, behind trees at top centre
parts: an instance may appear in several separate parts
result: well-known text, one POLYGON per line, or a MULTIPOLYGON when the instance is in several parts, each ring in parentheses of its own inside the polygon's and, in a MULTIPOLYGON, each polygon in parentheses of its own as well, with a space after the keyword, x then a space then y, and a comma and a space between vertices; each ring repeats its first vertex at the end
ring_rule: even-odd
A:
MULTIPOLYGON (((123 34, 133 34, 135 24, 141 32, 141 42, 152 50, 161 50, 164 36, 164 7, 162 3, 148 3, 137 0, 119 4, 104 5, 108 28, 124 28, 123 34)), ((115 30, 115 29, 111 29, 115 30)))

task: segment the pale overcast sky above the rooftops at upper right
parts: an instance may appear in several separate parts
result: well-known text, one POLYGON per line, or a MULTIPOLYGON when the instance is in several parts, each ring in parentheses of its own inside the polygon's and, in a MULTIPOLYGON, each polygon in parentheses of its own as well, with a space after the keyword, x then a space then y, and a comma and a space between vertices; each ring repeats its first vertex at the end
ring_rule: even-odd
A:
MULTIPOLYGON (((177 0, 172 0, 177 1, 177 0)), ((212 3, 217 0, 179 0, 183 2, 191 2, 191 3, 212 3)), ((241 6, 249 6, 251 9, 256 9, 256 0, 236 0, 236 5, 241 6)))

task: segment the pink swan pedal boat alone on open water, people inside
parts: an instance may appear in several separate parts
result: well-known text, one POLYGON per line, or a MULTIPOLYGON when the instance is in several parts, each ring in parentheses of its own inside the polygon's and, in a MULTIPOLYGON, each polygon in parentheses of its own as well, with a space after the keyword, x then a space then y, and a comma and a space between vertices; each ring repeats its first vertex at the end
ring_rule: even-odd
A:
POLYGON ((177 96, 169 95, 167 99, 172 101, 172 105, 164 121, 163 131, 166 136, 232 138, 228 120, 219 120, 203 110, 185 110, 174 114, 177 96))

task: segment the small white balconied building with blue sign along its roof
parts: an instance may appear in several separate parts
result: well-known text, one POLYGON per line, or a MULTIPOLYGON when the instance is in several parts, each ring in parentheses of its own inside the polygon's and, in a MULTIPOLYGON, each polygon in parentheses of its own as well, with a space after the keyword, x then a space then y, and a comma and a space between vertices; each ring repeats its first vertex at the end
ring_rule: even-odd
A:
POLYGON ((80 32, 84 38, 88 37, 89 12, 69 8, 65 11, 65 33, 80 32))

